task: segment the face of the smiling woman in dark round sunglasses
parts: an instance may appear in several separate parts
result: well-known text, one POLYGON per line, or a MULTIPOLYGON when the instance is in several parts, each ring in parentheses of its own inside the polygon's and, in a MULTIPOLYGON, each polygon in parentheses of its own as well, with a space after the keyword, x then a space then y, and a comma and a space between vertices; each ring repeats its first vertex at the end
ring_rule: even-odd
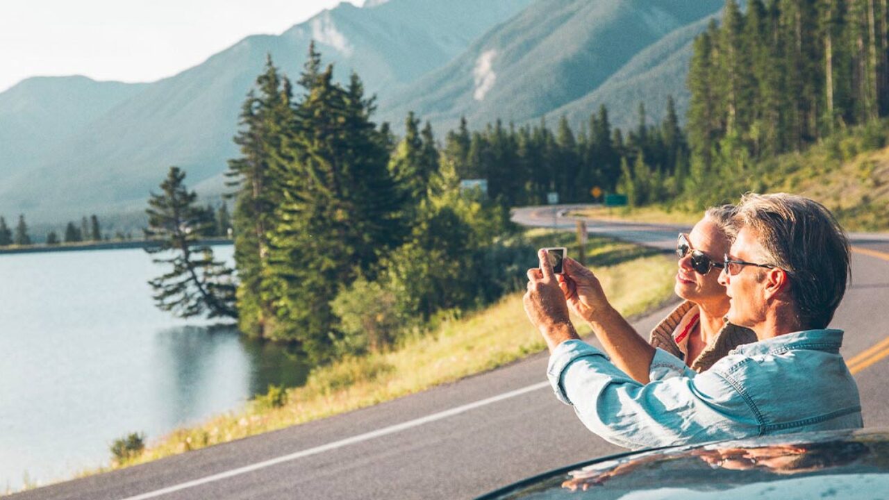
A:
MULTIPOLYGON (((731 244, 728 238, 717 224, 707 217, 694 224, 692 232, 686 236, 691 250, 699 250, 707 255, 712 262, 721 263, 723 255, 728 252, 731 244)), ((719 284, 719 273, 722 269, 711 267, 705 275, 692 269, 692 252, 679 259, 679 270, 676 275, 676 294, 695 303, 724 301, 728 303, 725 295, 725 286, 719 284)))

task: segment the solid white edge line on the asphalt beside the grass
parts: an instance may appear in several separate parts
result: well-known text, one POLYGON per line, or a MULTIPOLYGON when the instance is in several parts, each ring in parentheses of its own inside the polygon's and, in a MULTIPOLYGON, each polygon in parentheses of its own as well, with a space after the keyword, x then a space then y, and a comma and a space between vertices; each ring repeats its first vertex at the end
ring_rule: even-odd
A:
POLYGON ((358 434, 357 436, 352 436, 351 438, 347 438, 345 440, 333 441, 332 443, 327 443, 326 445, 322 445, 315 448, 308 448, 302 451, 298 451, 296 453, 292 453, 290 455, 278 456, 277 458, 272 458, 271 460, 266 460, 264 462, 259 462, 257 464, 245 465, 244 467, 238 467, 237 469, 232 469, 226 472, 220 472, 218 474, 213 474, 212 476, 206 476, 204 478, 200 478, 197 480, 190 480, 187 482, 183 482, 168 488, 156 489, 155 491, 149 491, 148 493, 143 493, 137 496, 128 496, 123 500, 145 500, 147 498, 155 498, 157 496, 166 495, 168 493, 172 493, 174 491, 180 491, 186 488, 194 488, 196 486, 200 486, 203 484, 211 483, 213 481, 224 480, 227 478, 231 478, 240 474, 245 474, 247 472, 253 472, 260 469, 264 469, 266 467, 270 467, 276 464, 283 464, 284 462, 290 462, 291 460, 296 460, 297 458, 302 458, 304 456, 316 455, 319 453, 324 453, 325 451, 330 451, 336 448, 342 448, 348 445, 354 445, 356 443, 360 443, 361 441, 372 440, 374 438, 380 438, 381 436, 386 436, 388 434, 393 434, 395 432, 404 431, 410 429, 412 427, 418 427, 420 425, 435 422, 436 420, 442 420, 449 416, 459 415, 464 412, 468 412, 471 409, 475 409, 477 407, 484 407, 485 405, 490 405, 492 403, 496 403, 498 401, 502 401, 503 399, 515 398, 516 396, 520 396, 525 394, 525 392, 537 391, 538 389, 542 389, 544 387, 549 387, 549 382, 541 382, 534 383, 533 385, 528 385, 521 389, 517 389, 516 391, 504 392, 500 395, 493 396, 488 399, 481 399, 474 403, 469 403, 468 405, 463 405, 461 407, 451 408, 449 410, 445 410, 443 412, 434 413, 432 415, 422 416, 420 418, 409 420, 404 423, 396 423, 395 425, 390 425, 388 427, 384 427, 382 429, 378 429, 376 431, 365 432, 364 434, 358 434))

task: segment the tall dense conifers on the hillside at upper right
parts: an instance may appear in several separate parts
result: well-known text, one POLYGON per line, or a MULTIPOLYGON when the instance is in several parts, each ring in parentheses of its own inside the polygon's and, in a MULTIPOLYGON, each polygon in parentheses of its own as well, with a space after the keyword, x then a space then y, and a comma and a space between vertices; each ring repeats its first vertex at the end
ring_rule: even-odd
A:
POLYGON ((878 135, 887 38, 886 0, 728 0, 693 45, 684 197, 700 208, 758 189, 757 161, 852 125, 878 135))

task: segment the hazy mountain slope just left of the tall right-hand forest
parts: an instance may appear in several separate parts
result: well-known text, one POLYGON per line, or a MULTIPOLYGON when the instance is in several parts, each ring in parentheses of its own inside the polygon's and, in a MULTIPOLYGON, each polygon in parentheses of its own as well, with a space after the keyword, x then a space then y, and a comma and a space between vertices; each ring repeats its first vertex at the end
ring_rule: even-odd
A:
POLYGON ((550 111, 548 116, 554 119, 565 116, 570 124, 579 126, 587 123, 591 112, 605 104, 612 125, 628 130, 638 125, 639 102, 645 102, 649 123, 658 123, 665 115, 668 97, 673 96, 677 114, 685 122, 691 97, 685 78, 692 59, 692 45, 694 38, 707 29, 711 17, 664 36, 639 52, 596 90, 550 111))

